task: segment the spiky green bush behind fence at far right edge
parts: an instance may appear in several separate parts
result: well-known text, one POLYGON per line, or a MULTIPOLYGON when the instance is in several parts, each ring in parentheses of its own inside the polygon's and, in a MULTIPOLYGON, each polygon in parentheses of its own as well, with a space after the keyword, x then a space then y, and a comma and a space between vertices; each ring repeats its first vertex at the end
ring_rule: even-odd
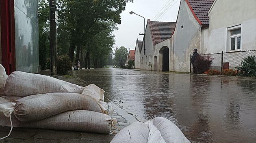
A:
POLYGON ((241 61, 241 65, 236 67, 238 70, 237 76, 256 77, 256 59, 255 56, 248 56, 241 61))

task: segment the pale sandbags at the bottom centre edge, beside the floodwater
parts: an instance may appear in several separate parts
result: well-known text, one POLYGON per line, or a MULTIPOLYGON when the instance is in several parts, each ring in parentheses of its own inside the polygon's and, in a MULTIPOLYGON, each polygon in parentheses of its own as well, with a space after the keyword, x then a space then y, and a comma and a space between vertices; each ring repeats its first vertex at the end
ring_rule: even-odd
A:
POLYGON ((148 122, 134 122, 123 128, 111 143, 190 143, 170 120, 156 117, 148 122))

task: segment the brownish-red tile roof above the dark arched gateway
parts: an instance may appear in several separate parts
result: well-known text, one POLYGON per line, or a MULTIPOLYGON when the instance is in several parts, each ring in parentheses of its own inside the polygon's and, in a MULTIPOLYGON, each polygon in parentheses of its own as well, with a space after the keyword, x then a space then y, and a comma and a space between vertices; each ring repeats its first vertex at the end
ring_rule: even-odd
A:
POLYGON ((171 34, 174 32, 176 22, 150 21, 150 19, 148 19, 148 24, 150 27, 153 45, 155 45, 168 38, 171 38, 171 34))

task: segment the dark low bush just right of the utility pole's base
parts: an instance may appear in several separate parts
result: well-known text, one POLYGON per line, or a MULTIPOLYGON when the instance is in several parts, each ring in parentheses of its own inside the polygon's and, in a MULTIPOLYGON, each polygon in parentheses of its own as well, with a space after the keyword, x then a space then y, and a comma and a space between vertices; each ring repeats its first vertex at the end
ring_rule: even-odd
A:
POLYGON ((72 69, 72 62, 68 55, 57 56, 57 74, 67 74, 72 69))

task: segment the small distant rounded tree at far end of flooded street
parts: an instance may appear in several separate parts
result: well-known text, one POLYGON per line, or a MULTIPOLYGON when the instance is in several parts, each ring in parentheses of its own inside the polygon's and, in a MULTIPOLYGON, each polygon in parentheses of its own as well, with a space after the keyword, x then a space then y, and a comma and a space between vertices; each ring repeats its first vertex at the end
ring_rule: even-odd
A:
POLYGON ((120 48, 116 47, 115 49, 115 64, 123 66, 126 62, 126 56, 128 54, 128 50, 121 46, 120 48))

